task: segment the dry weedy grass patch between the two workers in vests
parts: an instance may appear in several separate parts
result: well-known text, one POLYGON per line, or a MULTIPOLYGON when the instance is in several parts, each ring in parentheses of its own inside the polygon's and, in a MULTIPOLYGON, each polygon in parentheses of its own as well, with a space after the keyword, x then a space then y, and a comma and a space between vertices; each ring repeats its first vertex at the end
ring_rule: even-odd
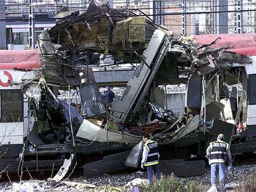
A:
POLYGON ((160 181, 155 181, 153 185, 139 186, 140 192, 203 192, 203 185, 196 182, 184 182, 181 178, 175 177, 172 173, 164 176, 160 181))

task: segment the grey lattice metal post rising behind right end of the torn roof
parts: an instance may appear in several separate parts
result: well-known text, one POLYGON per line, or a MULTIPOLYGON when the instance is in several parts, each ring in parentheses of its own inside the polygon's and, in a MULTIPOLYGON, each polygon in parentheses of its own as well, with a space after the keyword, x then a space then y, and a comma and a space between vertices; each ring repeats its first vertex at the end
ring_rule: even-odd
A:
POLYGON ((164 1, 153 0, 153 21, 159 25, 164 25, 164 1), (159 15, 160 14, 160 15, 159 15))

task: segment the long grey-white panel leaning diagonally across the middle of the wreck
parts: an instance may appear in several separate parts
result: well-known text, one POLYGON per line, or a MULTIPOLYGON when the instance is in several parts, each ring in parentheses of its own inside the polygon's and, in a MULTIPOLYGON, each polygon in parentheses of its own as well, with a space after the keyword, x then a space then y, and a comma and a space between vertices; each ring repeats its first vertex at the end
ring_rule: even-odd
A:
POLYGON ((156 30, 151 38, 150 44, 148 44, 148 48, 143 53, 145 62, 147 62, 150 67, 142 62, 141 65, 143 65, 143 67, 139 77, 133 77, 127 83, 127 86, 132 87, 132 89, 126 91, 121 101, 117 101, 113 104, 112 118, 116 120, 116 122, 129 121, 132 113, 137 111, 140 104, 142 104, 143 97, 148 92, 148 88, 168 48, 168 37, 163 31, 156 30), (158 51, 160 53, 158 53, 158 51))

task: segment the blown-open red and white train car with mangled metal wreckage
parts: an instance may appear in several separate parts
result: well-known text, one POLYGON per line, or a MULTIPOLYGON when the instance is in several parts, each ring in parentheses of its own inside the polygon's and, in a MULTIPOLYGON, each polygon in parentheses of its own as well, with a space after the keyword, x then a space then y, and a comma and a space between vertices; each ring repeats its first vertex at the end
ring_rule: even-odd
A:
MULTIPOLYGON (((72 167, 75 155, 80 156, 77 161, 81 165, 116 151, 125 151, 126 158, 127 149, 139 143, 143 133, 150 133, 158 141, 163 159, 188 159, 191 154, 203 158, 207 142, 220 131, 230 140, 237 123, 247 122, 249 128, 250 119, 250 125, 255 124, 255 117, 249 117, 249 109, 254 106, 247 105, 246 96, 248 74, 255 70, 249 57, 252 53, 244 53, 244 45, 241 49, 226 46, 217 37, 176 37, 142 12, 137 15, 130 10, 110 9, 101 1, 90 4, 83 14, 65 15, 39 36, 40 53, 26 51, 30 59, 21 61, 20 52, 14 51, 9 56, 12 65, 1 64, 4 75, 20 74, 17 80, 9 78, 7 84, 1 81, 0 126, 5 127, 1 151, 9 159, 1 163, 1 169, 43 170, 53 163, 61 166, 65 155, 64 164, 54 177, 61 180, 72 167), (113 102, 111 109, 101 101, 92 71, 88 70, 94 52, 113 56, 120 65, 140 63, 124 95, 113 102), (39 54, 40 61, 35 62, 39 54), (181 83, 186 77, 186 114, 179 118, 158 106, 164 101, 157 99, 162 95, 158 86, 181 83), (242 83, 243 91, 241 96, 233 95, 234 99, 229 96, 227 85, 237 82, 242 83), (62 90, 69 90, 68 102, 58 98, 62 90), (13 108, 11 103, 15 104, 13 108), (20 113, 19 106, 23 110, 20 113), (19 147, 10 150, 11 146, 19 147), (172 152, 168 152, 170 148, 172 152), (51 160, 53 156, 62 161, 51 160)), ((0 54, 8 57, 2 51, 0 54)), ((250 130, 253 135, 254 129, 250 130)), ((253 136, 250 139, 254 141, 253 136)), ((254 149, 252 142, 245 151, 254 149)), ((138 155, 137 151, 130 154, 127 165, 137 165, 138 155)))

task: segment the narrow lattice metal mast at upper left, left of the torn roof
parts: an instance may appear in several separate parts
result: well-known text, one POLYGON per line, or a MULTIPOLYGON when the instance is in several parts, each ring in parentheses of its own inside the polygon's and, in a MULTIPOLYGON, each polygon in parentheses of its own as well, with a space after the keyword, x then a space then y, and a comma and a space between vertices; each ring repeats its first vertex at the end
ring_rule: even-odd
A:
POLYGON ((28 15, 28 43, 30 48, 35 49, 35 12, 32 6, 33 0, 29 0, 29 15, 28 15))

